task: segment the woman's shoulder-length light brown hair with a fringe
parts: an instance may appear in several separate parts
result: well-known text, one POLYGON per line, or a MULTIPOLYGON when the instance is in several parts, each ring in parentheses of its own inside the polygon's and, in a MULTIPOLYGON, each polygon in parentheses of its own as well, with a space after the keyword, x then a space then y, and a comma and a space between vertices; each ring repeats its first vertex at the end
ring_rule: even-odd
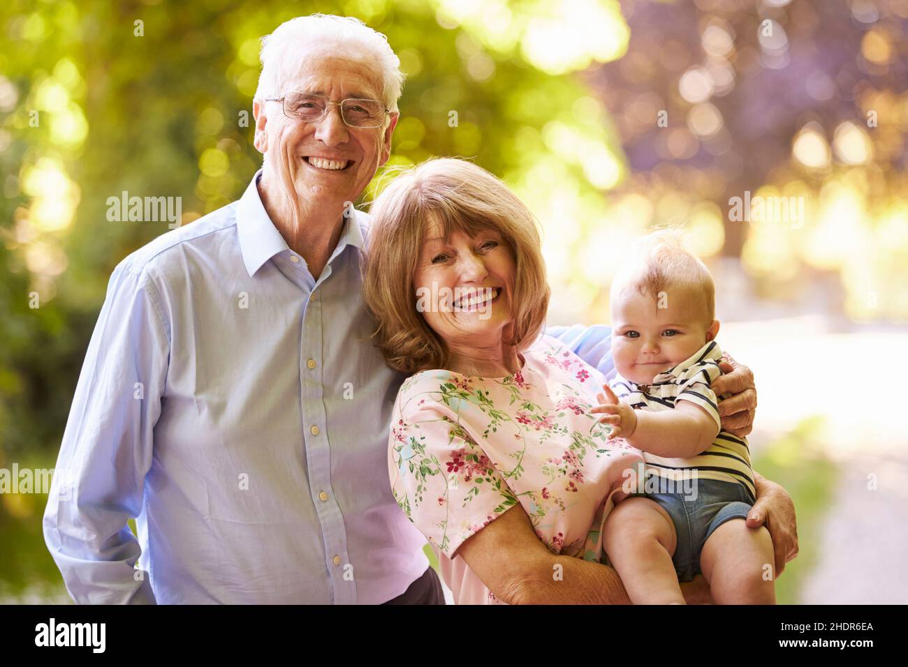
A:
POLYGON ((526 348, 541 331, 548 309, 546 267, 537 222, 504 182, 481 167, 436 158, 410 168, 372 204, 369 248, 363 253, 363 298, 377 321, 374 336, 390 368, 414 373, 445 368, 448 349, 417 310, 413 275, 429 221, 445 237, 495 230, 515 260, 510 295, 513 337, 526 348))

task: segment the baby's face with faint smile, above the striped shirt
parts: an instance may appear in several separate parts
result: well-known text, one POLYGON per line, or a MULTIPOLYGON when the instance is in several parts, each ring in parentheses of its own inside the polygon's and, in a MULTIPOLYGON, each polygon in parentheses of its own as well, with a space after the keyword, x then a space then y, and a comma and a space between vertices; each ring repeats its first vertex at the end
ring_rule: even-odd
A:
POLYGON ((612 302, 612 358, 624 378, 648 385, 716 338, 702 293, 669 288, 662 299, 623 289, 612 302))

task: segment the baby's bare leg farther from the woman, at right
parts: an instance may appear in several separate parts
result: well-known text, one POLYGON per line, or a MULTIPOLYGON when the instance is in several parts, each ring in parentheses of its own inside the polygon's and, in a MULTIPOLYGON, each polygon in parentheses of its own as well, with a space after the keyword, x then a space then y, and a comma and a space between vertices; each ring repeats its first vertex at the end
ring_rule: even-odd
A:
POLYGON ((774 563, 769 531, 748 528, 741 518, 716 528, 700 552, 700 570, 716 604, 775 604, 774 563))

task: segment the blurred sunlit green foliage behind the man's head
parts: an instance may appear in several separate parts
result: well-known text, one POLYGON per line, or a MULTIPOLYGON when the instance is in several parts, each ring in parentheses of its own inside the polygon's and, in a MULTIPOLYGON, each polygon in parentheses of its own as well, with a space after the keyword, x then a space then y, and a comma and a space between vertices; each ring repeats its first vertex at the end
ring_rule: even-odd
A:
MULTIPOLYGON (((108 221, 108 198, 178 196, 187 224, 237 199, 261 164, 252 93, 263 34, 312 12, 357 16, 387 34, 408 76, 390 163, 474 159, 535 203, 558 243, 577 243, 577 202, 600 206, 598 190, 623 169, 602 105, 560 75, 624 53, 617 3, 590 8, 572 15, 551 0, 5 3, 0 464, 58 446, 111 271, 168 231, 166 221, 108 221), (570 47, 553 51, 572 31, 570 47), (583 151, 553 143, 552 123, 583 151)), ((381 181, 380 173, 365 202, 381 181)))

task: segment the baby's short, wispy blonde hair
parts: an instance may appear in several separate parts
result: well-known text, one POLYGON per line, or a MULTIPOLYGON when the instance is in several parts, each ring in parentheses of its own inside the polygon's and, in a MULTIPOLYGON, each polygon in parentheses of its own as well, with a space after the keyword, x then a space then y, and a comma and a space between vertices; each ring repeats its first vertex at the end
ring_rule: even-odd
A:
POLYGON ((612 280, 611 302, 625 289, 658 300, 669 287, 687 288, 700 292, 708 321, 715 319, 716 283, 703 260, 686 250, 687 238, 680 229, 662 228, 637 240, 612 280))

